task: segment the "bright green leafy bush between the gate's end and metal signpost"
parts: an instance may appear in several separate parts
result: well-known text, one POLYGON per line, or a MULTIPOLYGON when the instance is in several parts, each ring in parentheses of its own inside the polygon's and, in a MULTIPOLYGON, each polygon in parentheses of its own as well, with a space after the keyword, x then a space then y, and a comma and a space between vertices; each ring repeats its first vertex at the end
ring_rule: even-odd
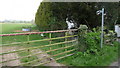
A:
POLYGON ((78 47, 84 49, 84 51, 97 53, 100 48, 100 33, 99 32, 90 32, 79 37, 78 47))

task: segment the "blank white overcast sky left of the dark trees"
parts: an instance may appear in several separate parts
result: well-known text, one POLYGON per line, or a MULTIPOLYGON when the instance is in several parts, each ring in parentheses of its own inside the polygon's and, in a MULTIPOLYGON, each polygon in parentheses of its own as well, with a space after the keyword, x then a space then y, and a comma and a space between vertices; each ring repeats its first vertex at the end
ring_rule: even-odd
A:
POLYGON ((42 0, 0 0, 0 20, 32 20, 42 0))

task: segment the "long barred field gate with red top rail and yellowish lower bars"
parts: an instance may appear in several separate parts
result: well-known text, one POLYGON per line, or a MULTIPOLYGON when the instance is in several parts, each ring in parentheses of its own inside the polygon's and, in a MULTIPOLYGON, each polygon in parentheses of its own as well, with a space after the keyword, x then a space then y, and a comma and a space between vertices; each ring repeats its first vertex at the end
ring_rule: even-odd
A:
POLYGON ((77 29, 0 34, 2 37, 0 45, 0 48, 2 48, 0 60, 2 61, 0 61, 0 66, 40 66, 50 63, 51 61, 48 60, 43 61, 48 58, 53 58, 57 61, 73 55, 74 51, 76 51, 75 46, 78 40, 68 38, 74 38, 78 35, 68 35, 69 31, 74 32, 77 29), (52 36, 52 34, 55 35, 57 33, 63 33, 63 35, 59 37, 52 36), (47 37, 42 38, 40 34, 46 34, 47 37), (31 37, 35 39, 31 39, 31 37), (17 41, 17 39, 21 41, 17 41), (60 39, 62 39, 62 42, 60 39), (40 56, 45 54, 48 55, 40 58, 40 56), (19 62, 16 63, 17 61, 19 62))

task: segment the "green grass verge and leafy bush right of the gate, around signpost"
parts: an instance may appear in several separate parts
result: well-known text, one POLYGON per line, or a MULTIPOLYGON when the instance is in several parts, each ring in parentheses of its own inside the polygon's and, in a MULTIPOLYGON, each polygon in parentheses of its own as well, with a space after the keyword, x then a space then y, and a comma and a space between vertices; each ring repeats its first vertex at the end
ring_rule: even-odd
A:
POLYGON ((112 62, 117 61, 119 42, 113 41, 112 46, 104 44, 101 49, 99 32, 89 32, 84 34, 83 37, 84 39, 80 39, 79 41, 84 41, 83 44, 86 45, 86 49, 81 52, 79 47, 83 45, 79 44, 75 55, 59 60, 58 62, 68 66, 109 66, 112 62))

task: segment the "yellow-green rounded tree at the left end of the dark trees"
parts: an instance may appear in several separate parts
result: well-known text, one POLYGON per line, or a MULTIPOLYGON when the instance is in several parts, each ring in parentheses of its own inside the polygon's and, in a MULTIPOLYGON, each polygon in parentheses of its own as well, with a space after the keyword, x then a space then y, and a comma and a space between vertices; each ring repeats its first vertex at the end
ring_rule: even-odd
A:
MULTIPOLYGON (((36 13, 35 23, 37 24, 39 30, 59 30, 65 29, 65 22, 58 21, 57 17, 54 16, 52 9, 53 3, 51 2, 42 2, 36 13)), ((53 8, 56 8, 54 6, 53 8)))

